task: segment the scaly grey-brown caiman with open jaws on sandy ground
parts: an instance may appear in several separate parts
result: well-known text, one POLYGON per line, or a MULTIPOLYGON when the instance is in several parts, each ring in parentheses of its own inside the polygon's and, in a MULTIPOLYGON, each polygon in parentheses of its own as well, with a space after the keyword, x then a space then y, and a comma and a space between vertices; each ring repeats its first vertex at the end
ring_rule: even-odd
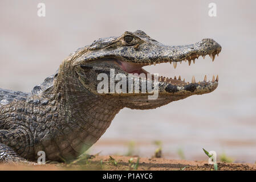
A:
MULTIPOLYGON (((185 46, 165 46, 145 32, 124 32, 101 38, 72 52, 58 71, 36 85, 31 93, 0 89, 0 162, 29 162, 44 151, 46 160, 76 159, 105 133, 112 119, 124 107, 154 109, 195 94, 210 93, 218 76, 210 81, 185 82, 181 77, 159 77, 159 96, 149 100, 145 93, 98 93, 97 75, 110 69, 115 74, 148 73, 147 65, 205 58, 221 52, 213 39, 185 46)), ((143 78, 148 79, 148 78, 143 78)), ((116 81, 115 81, 116 83, 116 81)), ((154 86, 154 85, 152 85, 154 86)), ((141 91, 141 84, 140 84, 141 91)))

